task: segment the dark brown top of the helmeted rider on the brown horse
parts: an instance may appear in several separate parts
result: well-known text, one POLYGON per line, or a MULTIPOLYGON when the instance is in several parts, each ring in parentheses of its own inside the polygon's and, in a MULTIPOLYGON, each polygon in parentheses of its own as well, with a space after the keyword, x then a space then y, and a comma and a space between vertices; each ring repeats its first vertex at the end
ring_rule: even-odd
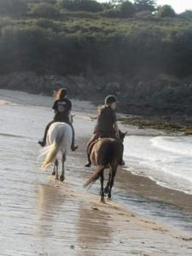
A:
POLYGON ((112 136, 115 134, 113 125, 117 121, 116 113, 110 107, 102 108, 97 117, 94 133, 112 136))

